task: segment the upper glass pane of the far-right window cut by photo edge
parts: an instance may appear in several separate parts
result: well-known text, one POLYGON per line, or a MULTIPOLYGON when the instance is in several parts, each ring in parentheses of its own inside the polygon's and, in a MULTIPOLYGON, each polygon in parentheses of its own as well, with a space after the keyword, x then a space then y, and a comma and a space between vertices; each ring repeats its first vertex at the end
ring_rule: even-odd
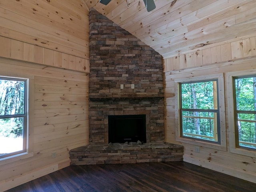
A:
POLYGON ((256 110, 256 77, 236 78, 236 110, 256 110), (255 89, 255 90, 254 90, 255 89))

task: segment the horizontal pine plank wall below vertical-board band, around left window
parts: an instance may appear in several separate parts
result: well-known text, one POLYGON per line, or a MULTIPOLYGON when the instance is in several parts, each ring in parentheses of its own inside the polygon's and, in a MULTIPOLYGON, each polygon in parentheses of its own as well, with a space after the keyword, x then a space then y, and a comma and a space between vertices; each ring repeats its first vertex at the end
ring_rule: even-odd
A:
POLYGON ((69 150, 88 144, 89 78, 84 72, 6 59, 0 59, 0 69, 0 75, 30 80, 31 157, 0 161, 3 191, 69 166, 69 150))

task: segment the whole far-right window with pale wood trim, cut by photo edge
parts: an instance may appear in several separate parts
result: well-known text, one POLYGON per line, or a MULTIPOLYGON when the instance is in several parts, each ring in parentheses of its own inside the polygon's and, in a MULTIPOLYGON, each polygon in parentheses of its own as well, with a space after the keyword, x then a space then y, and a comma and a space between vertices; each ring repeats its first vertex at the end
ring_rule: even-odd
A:
POLYGON ((227 73, 230 152, 255 157, 255 70, 227 73))

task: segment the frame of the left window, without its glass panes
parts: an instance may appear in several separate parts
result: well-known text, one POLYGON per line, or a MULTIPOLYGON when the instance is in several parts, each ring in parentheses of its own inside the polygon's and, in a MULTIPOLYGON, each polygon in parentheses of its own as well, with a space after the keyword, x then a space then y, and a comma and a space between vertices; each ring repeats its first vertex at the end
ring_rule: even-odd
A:
POLYGON ((6 159, 10 159, 10 158, 14 158, 14 157, 18 157, 20 155, 25 155, 28 154, 28 121, 29 121, 29 117, 28 117, 28 105, 29 105, 29 101, 28 101, 28 90, 29 90, 29 79, 28 78, 21 78, 21 77, 13 77, 13 76, 2 76, 0 75, 0 80, 14 80, 14 81, 23 81, 24 82, 24 112, 23 114, 13 114, 13 115, 0 115, 0 119, 6 119, 6 118, 19 118, 22 117, 23 118, 23 146, 22 146, 22 150, 20 151, 15 151, 12 153, 7 153, 6 155, 2 155, 0 156, 0 161, 6 160, 6 159))

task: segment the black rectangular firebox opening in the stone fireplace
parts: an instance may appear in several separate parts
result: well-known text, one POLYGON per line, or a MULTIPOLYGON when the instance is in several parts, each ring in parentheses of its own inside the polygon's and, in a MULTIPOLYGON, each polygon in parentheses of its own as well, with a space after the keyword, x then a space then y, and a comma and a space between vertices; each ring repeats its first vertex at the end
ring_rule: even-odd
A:
POLYGON ((108 143, 146 143, 146 115, 108 116, 108 143))

